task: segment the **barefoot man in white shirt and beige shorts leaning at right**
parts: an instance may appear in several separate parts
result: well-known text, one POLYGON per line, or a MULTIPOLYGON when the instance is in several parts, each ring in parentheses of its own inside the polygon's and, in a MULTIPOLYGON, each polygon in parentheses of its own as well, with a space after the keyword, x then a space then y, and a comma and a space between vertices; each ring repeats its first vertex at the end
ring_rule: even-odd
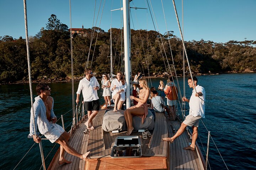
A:
POLYGON ((196 140, 198 136, 198 126, 201 118, 204 118, 204 109, 205 109, 205 90, 202 86, 197 85, 197 78, 193 77, 188 79, 188 86, 193 88, 192 95, 190 100, 186 97, 183 97, 182 100, 188 102, 190 105, 189 115, 186 116, 186 119, 181 123, 180 129, 172 137, 163 138, 165 141, 173 142, 178 136, 180 136, 186 129, 187 126, 192 126, 192 142, 191 145, 183 149, 195 150, 196 140), (193 85, 194 81, 194 85, 193 85))

